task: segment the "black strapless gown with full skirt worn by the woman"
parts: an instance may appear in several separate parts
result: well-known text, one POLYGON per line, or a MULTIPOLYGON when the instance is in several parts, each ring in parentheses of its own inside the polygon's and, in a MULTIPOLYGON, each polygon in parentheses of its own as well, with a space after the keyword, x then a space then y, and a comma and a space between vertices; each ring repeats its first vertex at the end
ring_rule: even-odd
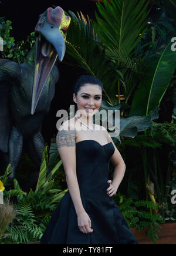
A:
MULTIPOLYGON (((83 234, 69 190, 54 211, 40 244, 138 244, 119 207, 107 195, 113 143, 96 140, 76 143, 76 171, 84 210, 93 232, 83 234)), ((69 157, 69 156, 68 156, 69 157)))

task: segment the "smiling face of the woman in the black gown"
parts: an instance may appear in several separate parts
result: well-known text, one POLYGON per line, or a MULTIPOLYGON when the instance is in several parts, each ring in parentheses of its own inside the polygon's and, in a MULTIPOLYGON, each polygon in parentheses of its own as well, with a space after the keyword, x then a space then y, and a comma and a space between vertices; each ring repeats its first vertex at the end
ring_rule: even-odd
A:
POLYGON ((101 87, 86 83, 77 92, 77 97, 74 93, 73 100, 77 103, 77 110, 84 110, 83 114, 85 113, 86 116, 92 117, 99 111, 102 103, 101 87))

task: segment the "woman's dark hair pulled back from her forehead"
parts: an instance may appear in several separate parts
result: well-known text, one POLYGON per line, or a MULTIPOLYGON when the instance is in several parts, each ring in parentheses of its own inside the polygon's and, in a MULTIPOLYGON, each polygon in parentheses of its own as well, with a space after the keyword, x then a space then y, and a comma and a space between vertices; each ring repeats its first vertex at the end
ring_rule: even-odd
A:
POLYGON ((96 76, 83 75, 83 76, 80 76, 76 81, 75 92, 74 92, 76 97, 80 88, 83 87, 86 83, 90 83, 92 85, 99 85, 103 93, 103 83, 101 83, 101 81, 98 78, 96 78, 96 76))

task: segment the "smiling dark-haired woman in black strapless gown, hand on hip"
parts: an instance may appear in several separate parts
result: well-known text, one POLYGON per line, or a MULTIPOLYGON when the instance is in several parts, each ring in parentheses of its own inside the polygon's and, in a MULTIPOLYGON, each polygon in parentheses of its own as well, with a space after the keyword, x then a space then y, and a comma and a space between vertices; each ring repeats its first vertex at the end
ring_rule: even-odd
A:
POLYGON ((112 196, 126 165, 109 133, 93 124, 101 106, 103 85, 81 76, 73 100, 77 113, 59 128, 57 148, 69 190, 50 219, 40 244, 138 244, 112 196), (109 180, 109 161, 114 164, 109 180))

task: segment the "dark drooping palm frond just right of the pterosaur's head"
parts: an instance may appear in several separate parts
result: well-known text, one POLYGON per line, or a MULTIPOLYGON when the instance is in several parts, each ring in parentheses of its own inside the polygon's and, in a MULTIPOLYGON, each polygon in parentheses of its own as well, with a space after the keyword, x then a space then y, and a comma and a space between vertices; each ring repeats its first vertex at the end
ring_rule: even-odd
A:
MULTIPOLYGON (((106 57, 105 49, 102 49, 98 42, 101 42, 89 20, 80 12, 77 16, 69 11, 72 17, 69 31, 67 32, 66 54, 76 60, 78 66, 86 70, 90 75, 96 76, 103 82, 104 94, 109 102, 117 105, 117 76, 114 70, 114 63, 106 57), (109 79, 111 78, 111 79, 109 79)), ((69 58, 70 59, 70 58, 69 58)), ((68 63, 69 64, 69 63, 68 63)))

